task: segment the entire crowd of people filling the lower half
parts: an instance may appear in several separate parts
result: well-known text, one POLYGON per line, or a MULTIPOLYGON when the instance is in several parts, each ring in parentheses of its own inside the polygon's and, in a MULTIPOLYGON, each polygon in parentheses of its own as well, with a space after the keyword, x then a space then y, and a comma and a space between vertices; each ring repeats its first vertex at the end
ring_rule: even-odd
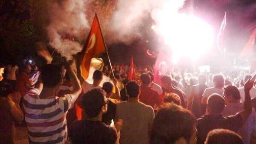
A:
POLYGON ((78 65, 0 65, 0 144, 15 143, 15 122, 30 144, 256 143, 253 75, 176 70, 155 83, 151 66, 128 79, 113 65, 89 83, 78 65))

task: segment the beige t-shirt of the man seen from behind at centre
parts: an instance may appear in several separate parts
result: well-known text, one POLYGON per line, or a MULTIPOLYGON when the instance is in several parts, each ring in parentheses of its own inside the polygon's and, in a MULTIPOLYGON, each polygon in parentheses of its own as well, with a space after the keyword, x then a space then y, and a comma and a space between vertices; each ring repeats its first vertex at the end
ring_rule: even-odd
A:
POLYGON ((117 105, 116 119, 123 120, 120 144, 149 144, 148 125, 154 120, 151 106, 139 101, 124 101, 117 105))

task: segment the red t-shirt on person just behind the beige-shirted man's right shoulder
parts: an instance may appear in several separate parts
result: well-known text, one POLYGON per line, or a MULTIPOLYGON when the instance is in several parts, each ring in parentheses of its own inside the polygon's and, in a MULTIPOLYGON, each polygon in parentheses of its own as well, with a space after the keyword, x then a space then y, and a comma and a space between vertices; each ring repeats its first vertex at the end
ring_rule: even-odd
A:
POLYGON ((146 105, 150 105, 154 108, 154 105, 159 105, 161 103, 161 98, 158 92, 154 91, 151 86, 142 85, 141 95, 139 96, 141 102, 146 105))

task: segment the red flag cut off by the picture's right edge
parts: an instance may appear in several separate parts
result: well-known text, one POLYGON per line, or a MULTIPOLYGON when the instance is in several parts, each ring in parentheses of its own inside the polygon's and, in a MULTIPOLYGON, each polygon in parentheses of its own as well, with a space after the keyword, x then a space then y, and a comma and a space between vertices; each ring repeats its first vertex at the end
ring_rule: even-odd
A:
POLYGON ((253 56, 253 47, 255 46, 256 42, 256 28, 253 30, 252 35, 250 36, 249 40, 247 41, 246 45, 243 47, 240 57, 251 57, 253 56))

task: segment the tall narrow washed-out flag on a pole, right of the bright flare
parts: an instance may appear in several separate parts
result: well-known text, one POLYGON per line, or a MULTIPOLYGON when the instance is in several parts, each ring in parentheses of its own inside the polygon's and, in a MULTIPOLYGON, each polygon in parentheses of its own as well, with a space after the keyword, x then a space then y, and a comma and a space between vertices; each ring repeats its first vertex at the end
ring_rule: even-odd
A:
POLYGON ((220 25, 220 30, 217 36, 217 46, 220 52, 225 52, 225 31, 226 31, 226 12, 220 25))

